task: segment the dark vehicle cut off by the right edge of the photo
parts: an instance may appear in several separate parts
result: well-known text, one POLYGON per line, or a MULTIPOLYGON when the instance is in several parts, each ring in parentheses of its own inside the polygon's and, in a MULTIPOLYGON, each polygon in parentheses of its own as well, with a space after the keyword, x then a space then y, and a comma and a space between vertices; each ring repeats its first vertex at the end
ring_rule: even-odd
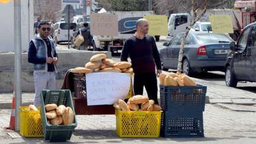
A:
POLYGON ((256 81, 256 22, 247 25, 238 38, 231 42, 231 51, 226 59, 225 80, 229 87, 238 81, 256 81))

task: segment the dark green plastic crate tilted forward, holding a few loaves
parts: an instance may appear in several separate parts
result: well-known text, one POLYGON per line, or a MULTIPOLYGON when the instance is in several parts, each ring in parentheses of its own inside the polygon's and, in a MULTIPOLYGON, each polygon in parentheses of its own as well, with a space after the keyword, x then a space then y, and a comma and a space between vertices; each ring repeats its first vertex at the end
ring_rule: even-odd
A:
POLYGON ((76 115, 75 121, 72 124, 49 124, 47 123, 46 109, 44 108, 44 105, 46 104, 57 104, 58 106, 65 105, 66 107, 71 107, 75 114, 70 90, 42 90, 41 92, 41 119, 44 131, 44 140, 49 140, 51 142, 70 140, 71 135, 77 126, 76 115))

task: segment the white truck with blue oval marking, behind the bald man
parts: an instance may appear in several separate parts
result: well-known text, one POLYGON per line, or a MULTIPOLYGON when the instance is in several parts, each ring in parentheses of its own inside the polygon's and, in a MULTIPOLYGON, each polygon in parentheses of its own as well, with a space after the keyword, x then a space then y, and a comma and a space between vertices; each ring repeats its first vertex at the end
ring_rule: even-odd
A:
MULTIPOLYGON (((121 51, 125 40, 136 31, 136 21, 144 15, 154 15, 153 11, 113 11, 118 16, 118 36, 94 35, 94 51, 103 50, 114 52, 121 51), (95 49, 96 48, 96 49, 95 49)), ((159 36, 155 37, 159 40, 159 36)))

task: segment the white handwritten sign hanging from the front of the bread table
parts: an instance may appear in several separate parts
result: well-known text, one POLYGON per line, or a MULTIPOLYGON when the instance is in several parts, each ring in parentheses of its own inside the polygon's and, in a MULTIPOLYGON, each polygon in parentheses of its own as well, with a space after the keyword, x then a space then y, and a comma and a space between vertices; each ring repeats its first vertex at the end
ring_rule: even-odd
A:
POLYGON ((127 73, 87 73, 87 105, 110 105, 118 99, 125 99, 130 90, 130 80, 127 73))

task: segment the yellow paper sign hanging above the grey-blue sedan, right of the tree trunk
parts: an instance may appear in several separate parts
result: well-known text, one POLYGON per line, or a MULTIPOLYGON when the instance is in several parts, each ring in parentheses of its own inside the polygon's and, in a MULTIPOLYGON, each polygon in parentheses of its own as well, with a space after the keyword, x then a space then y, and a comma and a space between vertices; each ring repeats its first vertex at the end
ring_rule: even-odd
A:
POLYGON ((230 15, 210 15, 212 33, 233 33, 233 22, 230 15))

